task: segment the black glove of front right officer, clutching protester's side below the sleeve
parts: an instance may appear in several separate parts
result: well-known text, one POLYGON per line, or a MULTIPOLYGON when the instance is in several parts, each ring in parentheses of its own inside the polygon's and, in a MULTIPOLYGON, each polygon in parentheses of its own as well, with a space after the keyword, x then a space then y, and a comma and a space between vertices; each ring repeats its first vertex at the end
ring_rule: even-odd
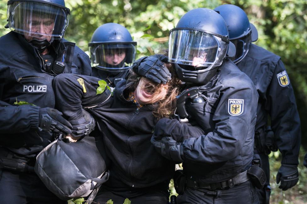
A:
POLYGON ((153 135, 151 143, 157 152, 163 157, 175 161, 180 164, 183 162, 183 148, 181 142, 176 142, 172 137, 162 137, 161 140, 156 140, 153 135))

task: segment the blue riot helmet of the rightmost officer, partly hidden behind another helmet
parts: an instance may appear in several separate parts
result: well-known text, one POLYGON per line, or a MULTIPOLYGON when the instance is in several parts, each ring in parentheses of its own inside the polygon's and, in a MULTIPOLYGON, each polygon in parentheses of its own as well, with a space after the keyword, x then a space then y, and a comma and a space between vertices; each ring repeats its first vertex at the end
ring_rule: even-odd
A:
POLYGON ((229 32, 229 39, 236 46, 234 63, 240 62, 248 53, 251 42, 258 40, 256 27, 249 23, 246 13, 235 5, 225 4, 214 9, 224 18, 229 32))

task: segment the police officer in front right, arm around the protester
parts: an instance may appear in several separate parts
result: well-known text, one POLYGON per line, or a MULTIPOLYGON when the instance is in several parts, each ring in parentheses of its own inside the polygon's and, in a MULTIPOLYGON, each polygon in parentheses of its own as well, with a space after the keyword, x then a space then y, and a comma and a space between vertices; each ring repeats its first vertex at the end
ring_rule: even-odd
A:
POLYGON ((181 118, 163 118, 155 126, 152 143, 157 151, 183 162, 185 179, 176 184, 182 194, 178 203, 259 202, 247 176, 258 94, 227 58, 234 54, 225 21, 211 9, 187 12, 170 31, 168 60, 186 85, 177 98, 178 103, 185 96, 185 106, 177 104, 177 110, 184 107, 193 127, 204 131, 198 137, 183 134, 190 126, 181 118))

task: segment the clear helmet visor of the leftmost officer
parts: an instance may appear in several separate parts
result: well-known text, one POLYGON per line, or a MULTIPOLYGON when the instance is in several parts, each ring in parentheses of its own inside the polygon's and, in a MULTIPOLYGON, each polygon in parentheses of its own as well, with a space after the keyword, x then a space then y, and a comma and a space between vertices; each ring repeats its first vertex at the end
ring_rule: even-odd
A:
POLYGON ((64 8, 38 2, 8 5, 8 25, 17 33, 47 39, 64 37, 69 14, 64 8))

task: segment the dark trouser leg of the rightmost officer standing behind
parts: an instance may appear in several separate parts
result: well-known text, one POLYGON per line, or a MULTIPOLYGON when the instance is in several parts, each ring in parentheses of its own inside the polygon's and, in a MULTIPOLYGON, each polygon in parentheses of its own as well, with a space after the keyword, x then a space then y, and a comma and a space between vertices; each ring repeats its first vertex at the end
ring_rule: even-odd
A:
POLYGON ((261 160, 261 169, 263 169, 263 171, 265 172, 266 181, 262 189, 257 188, 256 190, 257 190, 257 195, 258 195, 260 203, 266 204, 266 203, 269 203, 269 199, 270 199, 270 197, 266 198, 266 194, 268 193, 266 187, 267 185, 270 185, 270 163, 269 163, 268 155, 264 153, 258 153, 258 154, 261 160))

